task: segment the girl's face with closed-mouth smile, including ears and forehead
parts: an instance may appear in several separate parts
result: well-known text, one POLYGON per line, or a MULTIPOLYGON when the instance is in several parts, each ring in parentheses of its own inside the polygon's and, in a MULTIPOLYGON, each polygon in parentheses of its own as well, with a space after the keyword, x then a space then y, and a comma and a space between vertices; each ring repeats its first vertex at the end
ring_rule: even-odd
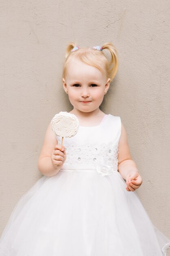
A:
POLYGON ((82 112, 92 112, 99 108, 107 92, 110 79, 96 67, 83 63, 78 59, 68 63, 63 88, 68 92, 68 97, 74 109, 82 112))

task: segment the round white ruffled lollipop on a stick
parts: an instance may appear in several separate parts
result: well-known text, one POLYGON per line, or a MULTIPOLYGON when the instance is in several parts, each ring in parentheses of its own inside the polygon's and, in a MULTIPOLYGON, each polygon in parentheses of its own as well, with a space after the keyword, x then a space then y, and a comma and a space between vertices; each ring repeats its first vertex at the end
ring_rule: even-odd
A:
POLYGON ((56 135, 62 137, 62 146, 64 137, 72 137, 77 133, 79 121, 76 115, 61 111, 52 118, 51 127, 56 135))

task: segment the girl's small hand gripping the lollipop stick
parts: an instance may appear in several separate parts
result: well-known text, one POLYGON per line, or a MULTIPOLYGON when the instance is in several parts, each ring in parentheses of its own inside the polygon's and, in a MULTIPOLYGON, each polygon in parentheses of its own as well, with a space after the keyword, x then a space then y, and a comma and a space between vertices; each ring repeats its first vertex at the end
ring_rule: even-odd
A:
POLYGON ((66 160, 66 152, 64 146, 57 144, 51 153, 51 161, 54 168, 62 167, 66 160))

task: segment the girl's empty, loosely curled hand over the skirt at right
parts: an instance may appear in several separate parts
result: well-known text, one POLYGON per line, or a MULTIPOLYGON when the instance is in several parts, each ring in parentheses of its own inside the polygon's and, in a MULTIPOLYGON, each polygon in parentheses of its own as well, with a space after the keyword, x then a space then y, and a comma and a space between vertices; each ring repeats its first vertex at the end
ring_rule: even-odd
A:
POLYGON ((142 184, 142 177, 137 170, 130 171, 126 176, 126 190, 135 191, 142 184))

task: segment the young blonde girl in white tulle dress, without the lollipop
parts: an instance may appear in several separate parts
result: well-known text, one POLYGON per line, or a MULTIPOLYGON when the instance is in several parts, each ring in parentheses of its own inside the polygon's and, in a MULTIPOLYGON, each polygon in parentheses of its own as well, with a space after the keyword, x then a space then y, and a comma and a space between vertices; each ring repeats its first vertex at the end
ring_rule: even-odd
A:
POLYGON ((44 176, 15 206, 0 256, 166 255, 170 240, 153 226, 135 191, 142 177, 121 119, 99 108, 117 70, 113 44, 68 45, 63 89, 79 128, 61 146, 49 124, 38 161, 44 176))

